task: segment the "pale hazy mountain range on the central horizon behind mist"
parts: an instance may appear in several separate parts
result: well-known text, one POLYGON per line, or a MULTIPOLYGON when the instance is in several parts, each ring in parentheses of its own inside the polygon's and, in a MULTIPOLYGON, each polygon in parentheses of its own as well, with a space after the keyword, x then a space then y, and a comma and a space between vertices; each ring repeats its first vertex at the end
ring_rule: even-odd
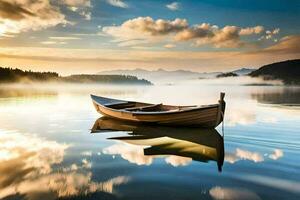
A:
POLYGON ((102 71, 98 74, 118 74, 118 75, 131 75, 137 76, 139 78, 147 79, 153 82, 165 82, 170 83, 174 81, 185 81, 185 80, 193 80, 199 78, 214 78, 216 75, 221 72, 207 72, 207 73, 199 73, 193 72, 189 70, 174 70, 168 71, 164 69, 158 70, 145 70, 145 69, 134 69, 134 70, 110 70, 110 71, 102 71))

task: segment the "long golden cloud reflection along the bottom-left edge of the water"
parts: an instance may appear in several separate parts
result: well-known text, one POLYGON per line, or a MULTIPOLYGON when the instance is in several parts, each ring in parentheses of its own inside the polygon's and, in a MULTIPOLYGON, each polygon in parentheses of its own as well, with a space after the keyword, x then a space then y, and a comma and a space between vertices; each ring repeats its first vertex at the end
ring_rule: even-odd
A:
POLYGON ((114 193, 118 185, 126 184, 130 180, 127 176, 118 176, 103 182, 92 181, 92 173, 53 173, 26 179, 16 185, 11 185, 0 191, 0 198, 21 194, 27 195, 32 200, 47 199, 51 195, 53 199, 74 197, 94 192, 114 193), (34 198, 33 194, 38 193, 34 198), (32 195, 32 196, 31 196, 32 195))

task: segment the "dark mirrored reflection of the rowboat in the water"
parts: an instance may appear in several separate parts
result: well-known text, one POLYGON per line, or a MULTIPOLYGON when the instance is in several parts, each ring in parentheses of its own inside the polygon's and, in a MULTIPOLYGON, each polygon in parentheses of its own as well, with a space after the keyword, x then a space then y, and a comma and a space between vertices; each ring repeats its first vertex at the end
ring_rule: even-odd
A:
POLYGON ((145 156, 175 155, 200 162, 215 161, 218 171, 222 171, 224 140, 215 129, 149 126, 107 117, 96 120, 92 128, 92 133, 110 131, 125 131, 127 134, 108 139, 147 146, 145 156))

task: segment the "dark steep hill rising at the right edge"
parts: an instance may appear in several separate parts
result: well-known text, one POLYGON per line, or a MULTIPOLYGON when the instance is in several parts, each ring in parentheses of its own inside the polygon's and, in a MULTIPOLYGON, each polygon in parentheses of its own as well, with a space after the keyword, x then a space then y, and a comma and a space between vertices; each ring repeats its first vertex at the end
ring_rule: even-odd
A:
POLYGON ((280 79, 289 85, 300 85, 300 59, 264 65, 249 75, 264 79, 280 79))

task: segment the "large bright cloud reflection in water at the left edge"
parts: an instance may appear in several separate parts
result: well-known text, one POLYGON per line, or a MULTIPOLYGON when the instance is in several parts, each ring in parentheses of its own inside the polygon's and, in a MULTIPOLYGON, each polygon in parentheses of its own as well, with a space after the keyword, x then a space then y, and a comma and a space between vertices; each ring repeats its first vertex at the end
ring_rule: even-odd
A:
POLYGON ((63 161, 68 147, 32 135, 1 131, 0 191, 25 178, 52 172, 52 165, 63 161))

